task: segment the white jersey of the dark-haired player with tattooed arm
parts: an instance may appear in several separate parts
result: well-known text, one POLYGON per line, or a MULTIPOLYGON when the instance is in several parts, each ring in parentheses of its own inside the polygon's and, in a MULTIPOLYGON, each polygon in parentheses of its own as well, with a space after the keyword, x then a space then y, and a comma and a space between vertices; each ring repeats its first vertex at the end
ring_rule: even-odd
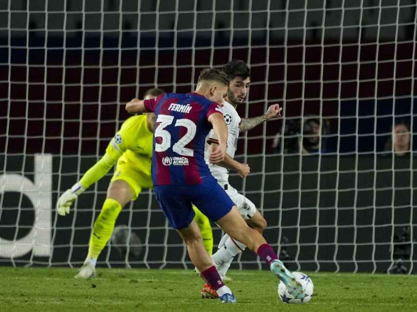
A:
MULTIPOLYGON (((229 135, 228 135, 228 147, 226 153, 230 157, 234 157, 237 148, 237 139, 239 138, 239 125, 241 122, 240 116, 237 114, 236 109, 229 103, 224 101, 223 107, 223 116, 225 117, 226 124, 228 125, 229 135)), ((214 165, 208 161, 208 150, 209 150, 209 141, 217 142, 218 137, 214 133, 214 130, 211 130, 206 139, 206 146, 204 149, 204 158, 208 164, 208 168, 211 171, 211 174, 216 178, 217 182, 220 184, 229 183, 229 169, 225 167, 214 165)))

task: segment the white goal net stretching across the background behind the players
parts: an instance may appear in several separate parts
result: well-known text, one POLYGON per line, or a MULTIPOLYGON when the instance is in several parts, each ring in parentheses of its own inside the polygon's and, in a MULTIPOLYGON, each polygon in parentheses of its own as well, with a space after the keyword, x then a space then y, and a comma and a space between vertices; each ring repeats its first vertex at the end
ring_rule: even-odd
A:
MULTIPOLYGON (((267 241, 292 269, 415 273, 415 0, 0 1, 0 264, 80 265, 112 171, 68 216, 57 198, 103 154, 153 87, 188 93, 201 69, 243 59, 242 117, 281 119, 238 142, 267 241)), ((151 191, 117 225, 109 267, 190 267, 151 191)), ((213 225, 214 244, 221 230, 213 225)), ((234 268, 261 268, 246 251, 234 268)))

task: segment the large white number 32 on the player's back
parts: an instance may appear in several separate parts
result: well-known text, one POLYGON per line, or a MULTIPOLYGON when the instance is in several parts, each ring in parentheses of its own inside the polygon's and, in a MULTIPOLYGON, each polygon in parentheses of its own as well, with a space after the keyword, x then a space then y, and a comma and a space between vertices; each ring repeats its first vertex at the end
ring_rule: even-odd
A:
MULTIPOLYGON (((173 116, 158 115, 156 122, 160 122, 160 124, 156 127, 154 136, 155 138, 162 138, 162 143, 157 143, 155 141, 155 152, 165 152, 171 146, 171 134, 164 129, 169 126, 173 120, 173 116)), ((185 146, 195 137, 197 126, 194 122, 186 118, 177 119, 175 127, 180 126, 186 127, 187 133, 172 146, 172 150, 182 156, 194 156, 194 151, 185 146)))

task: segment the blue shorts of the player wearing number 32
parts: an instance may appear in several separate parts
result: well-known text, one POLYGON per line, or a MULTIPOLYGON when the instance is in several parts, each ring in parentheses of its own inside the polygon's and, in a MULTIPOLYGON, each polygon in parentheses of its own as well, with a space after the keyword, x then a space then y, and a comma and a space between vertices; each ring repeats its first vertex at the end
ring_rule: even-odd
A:
POLYGON ((192 204, 213 222, 227 215, 234 206, 212 176, 204 177, 201 184, 155 185, 154 191, 169 225, 176 230, 190 225, 195 215, 192 204))

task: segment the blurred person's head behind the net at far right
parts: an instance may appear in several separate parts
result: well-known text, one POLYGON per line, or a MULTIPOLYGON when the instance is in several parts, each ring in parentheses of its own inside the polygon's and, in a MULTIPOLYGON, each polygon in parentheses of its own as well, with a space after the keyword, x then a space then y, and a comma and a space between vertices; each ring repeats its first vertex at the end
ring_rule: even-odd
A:
POLYGON ((410 126, 404 121, 399 121, 395 124, 384 151, 394 153, 397 157, 410 156, 410 143, 410 126))

